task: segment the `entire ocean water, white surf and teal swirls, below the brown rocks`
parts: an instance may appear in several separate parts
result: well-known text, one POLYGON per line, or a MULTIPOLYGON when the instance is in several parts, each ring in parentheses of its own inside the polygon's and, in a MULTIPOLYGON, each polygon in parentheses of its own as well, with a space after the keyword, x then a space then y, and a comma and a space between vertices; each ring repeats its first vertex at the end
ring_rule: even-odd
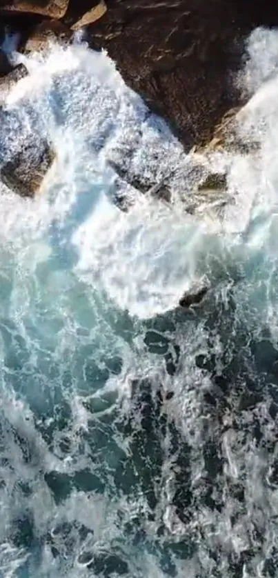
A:
POLYGON ((278 32, 235 79, 259 151, 200 160, 221 215, 186 213, 192 157, 106 54, 11 57, 0 162, 39 134, 57 159, 34 201, 1 185, 0 576, 278 576, 278 32))

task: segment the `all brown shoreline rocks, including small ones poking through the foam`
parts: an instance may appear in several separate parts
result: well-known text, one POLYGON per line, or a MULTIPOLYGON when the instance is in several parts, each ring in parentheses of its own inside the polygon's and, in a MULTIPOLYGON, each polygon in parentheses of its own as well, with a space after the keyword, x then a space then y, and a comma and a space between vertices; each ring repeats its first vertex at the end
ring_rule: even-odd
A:
MULTIPOLYGON (((235 85, 244 42, 257 26, 278 25, 277 8, 276 0, 0 0, 0 32, 2 40, 7 31, 17 33, 18 50, 28 54, 48 41, 69 43, 86 28, 90 48, 107 50, 124 81, 168 122, 185 152, 206 154, 241 147, 233 123, 245 103, 235 85)), ((0 49, 1 92, 26 74, 0 49)), ((0 179, 19 195, 34 197, 54 157, 50 143, 33 139, 3 162, 0 179)), ((121 166, 114 170, 130 182, 121 166)), ((225 177, 212 177, 201 183, 199 195, 225 190, 225 177)), ((169 200, 165 183, 131 184, 169 200)), ((207 290, 183 295, 180 304, 200 303, 207 290)))

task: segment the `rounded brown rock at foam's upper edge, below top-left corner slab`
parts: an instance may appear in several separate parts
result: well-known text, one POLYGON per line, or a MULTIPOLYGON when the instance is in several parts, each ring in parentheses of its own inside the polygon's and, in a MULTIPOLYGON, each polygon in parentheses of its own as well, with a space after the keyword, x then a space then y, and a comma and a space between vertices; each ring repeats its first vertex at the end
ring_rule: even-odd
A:
POLYGON ((28 32, 26 42, 21 45, 21 52, 37 52, 46 48, 49 42, 66 43, 71 37, 70 29, 59 20, 45 20, 28 32))

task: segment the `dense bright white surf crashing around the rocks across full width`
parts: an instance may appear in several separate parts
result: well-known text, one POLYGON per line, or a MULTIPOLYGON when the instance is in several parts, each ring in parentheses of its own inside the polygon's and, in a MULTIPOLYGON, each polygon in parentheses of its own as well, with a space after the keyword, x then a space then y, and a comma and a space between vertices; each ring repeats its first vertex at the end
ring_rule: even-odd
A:
MULTIPOLYGON (((26 243, 39 241, 47 259, 48 229, 57 223, 60 242, 66 243, 68 252, 77 250, 77 274, 94 287, 99 283, 119 308, 139 317, 175 307, 194 281, 203 275, 213 278, 210 254, 216 250, 221 259, 224 246, 233 251, 235 235, 246 232, 243 251, 248 243, 253 248, 254 243, 263 243, 266 225, 259 229, 256 225, 255 233, 252 222, 257 223, 257 212, 263 215, 267 207, 266 221, 277 203, 272 155, 277 140, 275 42, 275 32, 257 30, 248 45, 246 82, 252 78, 252 90, 257 92, 241 115, 241 130, 248 134, 252 126, 261 153, 250 158, 217 153, 209 159, 212 170, 228 170, 229 202, 221 222, 206 206, 199 221, 183 213, 183 181, 178 175, 187 174, 190 157, 163 121, 147 115, 146 106, 125 86, 105 53, 77 44, 66 49, 52 46, 47 54, 31 57, 17 54, 30 75, 6 100, 12 116, 1 133, 4 149, 11 137, 17 146, 15 126, 23 128, 23 139, 36 126, 54 143, 57 163, 36 201, 23 201, 10 192, 2 195, 3 241, 12 243, 17 252, 20 246, 24 252, 26 243), (268 52, 262 61, 258 55, 265 44, 268 52), (272 79, 265 83, 270 71, 272 79), (258 119, 264 122, 257 130, 258 119), (181 193, 175 195, 174 205, 141 198, 139 193, 128 213, 112 205, 109 194, 115 175, 107 161, 133 149, 130 170, 135 175, 160 182, 169 168, 173 170, 173 183, 179 183, 181 193)), ((203 159, 204 165, 207 162, 203 159)), ((190 189, 186 194, 190 200, 190 189)))

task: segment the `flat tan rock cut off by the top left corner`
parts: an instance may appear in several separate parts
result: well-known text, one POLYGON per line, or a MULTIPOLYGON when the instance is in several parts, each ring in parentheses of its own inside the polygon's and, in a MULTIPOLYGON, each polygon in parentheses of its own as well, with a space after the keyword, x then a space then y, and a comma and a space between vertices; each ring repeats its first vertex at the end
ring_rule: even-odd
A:
POLYGON ((0 12, 28 12, 50 18, 62 18, 69 0, 8 0, 1 2, 0 12))

